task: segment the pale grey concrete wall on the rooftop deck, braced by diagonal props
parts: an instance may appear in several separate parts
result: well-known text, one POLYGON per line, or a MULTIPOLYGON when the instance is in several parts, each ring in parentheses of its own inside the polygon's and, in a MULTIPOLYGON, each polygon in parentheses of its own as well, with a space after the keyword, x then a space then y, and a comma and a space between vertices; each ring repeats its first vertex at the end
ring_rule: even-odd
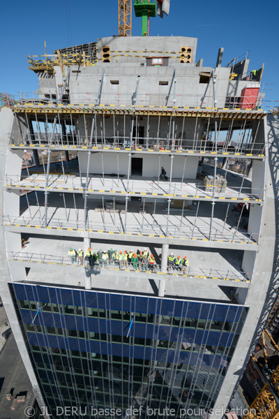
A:
MULTIPOLYGON (((199 106, 209 108, 213 106, 212 80, 209 84, 199 82, 201 71, 211 73, 211 67, 193 67, 179 64, 176 68, 176 103, 174 103, 174 84, 171 88, 174 68, 119 66, 113 63, 105 64, 100 103, 105 105, 131 105, 132 96, 136 89, 137 76, 140 75, 140 84, 137 94, 137 105, 166 105, 166 96, 169 92, 167 105, 199 106), (112 85, 111 80, 119 80, 119 84, 112 85), (162 86, 160 81, 169 82, 162 86), (171 89, 170 89, 171 88, 171 89)), ((102 73, 100 66, 86 68, 71 67, 70 73, 70 103, 95 103, 99 87, 99 78, 102 73)), ((224 108, 229 82, 230 68, 216 68, 216 97, 218 107, 224 108)))

